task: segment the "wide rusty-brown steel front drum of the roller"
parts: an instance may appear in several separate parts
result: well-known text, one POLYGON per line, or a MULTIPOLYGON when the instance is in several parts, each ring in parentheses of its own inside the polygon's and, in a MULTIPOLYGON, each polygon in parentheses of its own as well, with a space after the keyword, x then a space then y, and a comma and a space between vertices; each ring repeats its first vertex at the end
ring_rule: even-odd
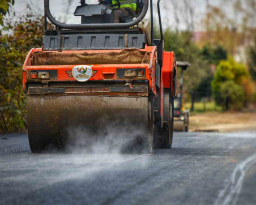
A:
POLYGON ((65 148, 75 135, 89 145, 112 131, 148 146, 148 97, 28 95, 27 103, 32 152, 50 144, 65 148))

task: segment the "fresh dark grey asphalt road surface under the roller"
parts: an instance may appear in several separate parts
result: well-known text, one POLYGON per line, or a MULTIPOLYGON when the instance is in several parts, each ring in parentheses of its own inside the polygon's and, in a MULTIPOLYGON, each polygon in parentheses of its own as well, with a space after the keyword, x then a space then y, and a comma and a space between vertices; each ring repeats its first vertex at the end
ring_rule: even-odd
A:
POLYGON ((0 136, 0 204, 256 204, 255 133, 175 133, 148 154, 32 154, 0 136))

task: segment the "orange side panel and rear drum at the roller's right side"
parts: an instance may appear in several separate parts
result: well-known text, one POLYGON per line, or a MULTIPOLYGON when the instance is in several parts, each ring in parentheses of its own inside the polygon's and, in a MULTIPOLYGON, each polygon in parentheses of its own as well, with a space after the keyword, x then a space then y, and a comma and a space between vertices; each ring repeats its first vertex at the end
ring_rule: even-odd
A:
POLYGON ((177 66, 173 52, 163 52, 161 86, 158 94, 155 105, 154 147, 156 149, 171 148, 174 122, 173 99, 177 95, 177 66))

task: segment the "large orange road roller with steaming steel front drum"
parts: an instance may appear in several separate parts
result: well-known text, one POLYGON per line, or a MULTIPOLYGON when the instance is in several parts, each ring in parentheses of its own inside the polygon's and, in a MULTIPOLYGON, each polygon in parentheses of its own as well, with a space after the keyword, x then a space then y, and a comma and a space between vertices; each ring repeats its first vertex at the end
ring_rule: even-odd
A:
POLYGON ((49 3, 42 48, 31 49, 23 66, 31 151, 65 148, 76 130, 88 144, 119 131, 118 138, 131 138, 126 146, 172 147, 177 68, 174 53, 164 51, 160 0, 160 40, 153 38, 153 0, 137 1, 138 16, 120 23, 113 17, 120 2, 80 1, 80 24, 58 22, 49 3))

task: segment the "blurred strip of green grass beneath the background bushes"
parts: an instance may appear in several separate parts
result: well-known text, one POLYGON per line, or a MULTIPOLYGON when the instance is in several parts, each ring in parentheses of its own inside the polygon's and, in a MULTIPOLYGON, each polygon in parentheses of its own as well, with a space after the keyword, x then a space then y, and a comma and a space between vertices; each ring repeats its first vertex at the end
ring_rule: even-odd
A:
MULTIPOLYGON (((191 102, 186 102, 185 108, 190 109, 191 102)), ((194 103, 194 112, 193 113, 214 112, 214 111, 217 111, 217 112, 222 111, 221 107, 218 105, 215 105, 214 101, 206 102, 205 108, 204 108, 203 101, 194 103)))

